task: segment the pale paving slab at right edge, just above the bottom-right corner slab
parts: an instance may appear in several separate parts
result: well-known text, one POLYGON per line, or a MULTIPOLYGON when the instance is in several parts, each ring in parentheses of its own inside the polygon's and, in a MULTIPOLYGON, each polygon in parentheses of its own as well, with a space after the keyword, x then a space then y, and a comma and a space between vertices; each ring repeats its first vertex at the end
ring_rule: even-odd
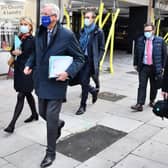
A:
POLYGON ((165 144, 155 141, 147 141, 133 151, 133 154, 168 165, 168 146, 165 144))

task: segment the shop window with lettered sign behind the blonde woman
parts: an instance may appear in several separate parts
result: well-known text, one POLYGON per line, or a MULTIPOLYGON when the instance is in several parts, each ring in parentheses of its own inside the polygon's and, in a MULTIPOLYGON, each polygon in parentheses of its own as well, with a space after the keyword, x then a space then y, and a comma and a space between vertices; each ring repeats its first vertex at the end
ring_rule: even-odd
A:
POLYGON ((0 0, 0 51, 9 51, 14 34, 18 34, 19 19, 30 17, 36 24, 35 0, 0 0))

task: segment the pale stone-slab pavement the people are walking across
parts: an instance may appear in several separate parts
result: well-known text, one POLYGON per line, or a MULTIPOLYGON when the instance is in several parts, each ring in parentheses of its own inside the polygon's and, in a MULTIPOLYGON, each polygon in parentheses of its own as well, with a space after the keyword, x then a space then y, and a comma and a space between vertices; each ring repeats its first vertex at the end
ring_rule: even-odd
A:
MULTIPOLYGON (((106 62, 105 67, 107 66, 106 62)), ((168 167, 168 120, 154 116, 147 105, 148 97, 143 112, 131 111, 130 106, 136 103, 138 86, 137 75, 127 73, 131 71, 132 56, 117 53, 114 74, 103 71, 100 75, 100 92, 112 92, 126 97, 116 102, 98 99, 96 104, 92 104, 89 97, 87 111, 80 116, 75 115, 79 107, 80 86, 70 87, 67 103, 63 104, 61 112, 66 125, 60 140, 95 125, 107 126, 128 134, 85 162, 57 152, 56 161, 50 168, 168 167)), ((13 80, 1 77, 0 102, 0 168, 39 168, 45 154, 45 122, 42 119, 29 124, 23 122, 30 115, 26 102, 15 132, 8 135, 3 129, 8 125, 16 103, 13 80)))

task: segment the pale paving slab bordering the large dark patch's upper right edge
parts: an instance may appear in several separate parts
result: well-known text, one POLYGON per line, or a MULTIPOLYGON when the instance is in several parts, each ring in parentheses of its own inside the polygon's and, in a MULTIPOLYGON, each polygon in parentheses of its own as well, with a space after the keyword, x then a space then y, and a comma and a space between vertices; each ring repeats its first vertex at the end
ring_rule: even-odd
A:
POLYGON ((109 115, 109 117, 104 118, 99 124, 128 133, 138 128, 143 122, 109 115))

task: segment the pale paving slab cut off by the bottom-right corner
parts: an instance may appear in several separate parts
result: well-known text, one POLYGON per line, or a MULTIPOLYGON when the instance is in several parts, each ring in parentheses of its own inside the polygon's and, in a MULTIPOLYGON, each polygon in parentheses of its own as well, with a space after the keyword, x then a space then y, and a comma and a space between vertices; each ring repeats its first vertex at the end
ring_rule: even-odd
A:
POLYGON ((135 155, 129 155, 113 168, 167 168, 168 165, 160 164, 135 155))

